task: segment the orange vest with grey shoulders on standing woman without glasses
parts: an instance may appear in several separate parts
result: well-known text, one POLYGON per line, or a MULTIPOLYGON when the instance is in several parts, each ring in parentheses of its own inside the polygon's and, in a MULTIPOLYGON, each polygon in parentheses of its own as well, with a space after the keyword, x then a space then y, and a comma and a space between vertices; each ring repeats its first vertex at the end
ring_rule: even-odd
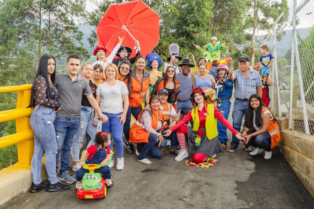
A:
POLYGON ((132 92, 129 98, 129 105, 134 108, 138 108, 142 105, 142 101, 149 85, 149 72, 143 70, 143 81, 142 81, 142 90, 141 90, 141 83, 139 82, 136 76, 136 69, 135 67, 132 69, 132 92))

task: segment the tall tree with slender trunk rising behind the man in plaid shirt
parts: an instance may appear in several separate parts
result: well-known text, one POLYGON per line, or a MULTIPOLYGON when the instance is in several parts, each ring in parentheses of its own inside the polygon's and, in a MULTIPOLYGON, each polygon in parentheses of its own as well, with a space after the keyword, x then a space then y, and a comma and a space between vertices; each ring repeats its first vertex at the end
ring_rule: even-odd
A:
MULTIPOLYGON (((270 33, 273 30, 273 23, 276 21, 281 12, 284 12, 283 19, 286 19, 289 14, 287 0, 271 1, 271 0, 253 0, 251 10, 249 10, 246 25, 252 28, 251 38, 247 39, 245 36, 245 45, 250 53, 251 65, 255 61, 255 53, 259 50, 261 43, 265 36, 259 36, 259 31, 267 31, 270 33), (250 42, 250 44, 249 44, 250 42), (257 46, 258 44, 258 46, 257 46)), ((281 21, 283 23, 284 21, 281 21)), ((281 24, 278 24, 280 27, 281 24)))

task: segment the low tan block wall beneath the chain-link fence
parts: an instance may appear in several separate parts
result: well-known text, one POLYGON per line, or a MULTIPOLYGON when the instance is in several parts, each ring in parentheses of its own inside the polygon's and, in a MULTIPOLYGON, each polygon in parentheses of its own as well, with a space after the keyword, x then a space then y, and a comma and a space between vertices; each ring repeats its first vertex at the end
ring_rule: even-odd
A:
POLYGON ((279 150, 314 197, 314 136, 289 130, 286 118, 276 119, 281 137, 279 150))

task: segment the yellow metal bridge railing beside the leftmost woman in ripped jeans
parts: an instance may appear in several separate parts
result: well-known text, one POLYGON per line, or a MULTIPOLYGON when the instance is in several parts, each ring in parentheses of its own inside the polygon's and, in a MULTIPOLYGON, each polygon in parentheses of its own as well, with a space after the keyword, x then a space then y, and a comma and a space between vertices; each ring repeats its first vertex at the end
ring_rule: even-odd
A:
POLYGON ((0 138, 0 148, 18 145, 18 162, 14 167, 29 168, 34 153, 34 132, 30 127, 32 84, 0 87, 0 93, 18 91, 16 109, 0 112, 0 122, 16 121, 16 133, 0 138))

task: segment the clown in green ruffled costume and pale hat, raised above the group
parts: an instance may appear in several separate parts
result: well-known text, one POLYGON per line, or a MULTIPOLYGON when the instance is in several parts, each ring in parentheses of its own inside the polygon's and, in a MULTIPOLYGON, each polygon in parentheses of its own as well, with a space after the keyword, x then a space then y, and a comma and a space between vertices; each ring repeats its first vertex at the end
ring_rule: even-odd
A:
POLYGON ((213 36, 210 39, 210 42, 210 44, 203 46, 203 48, 198 45, 194 45, 195 48, 202 52, 202 56, 205 56, 208 59, 209 68, 211 67, 213 60, 220 60, 220 53, 225 53, 229 46, 228 43, 222 44, 220 41, 218 41, 216 36, 213 36))

